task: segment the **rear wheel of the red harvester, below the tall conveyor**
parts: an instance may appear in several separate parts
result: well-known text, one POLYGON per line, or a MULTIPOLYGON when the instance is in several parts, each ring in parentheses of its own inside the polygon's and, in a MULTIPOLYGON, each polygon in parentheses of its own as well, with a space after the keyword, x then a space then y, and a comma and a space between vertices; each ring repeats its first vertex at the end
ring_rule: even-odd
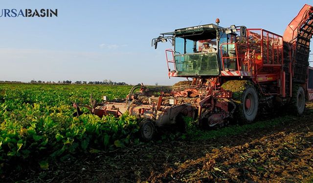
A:
POLYGON ((295 115, 302 115, 305 108, 305 94, 303 87, 300 85, 295 85, 292 88, 292 98, 291 98, 291 112, 295 115))

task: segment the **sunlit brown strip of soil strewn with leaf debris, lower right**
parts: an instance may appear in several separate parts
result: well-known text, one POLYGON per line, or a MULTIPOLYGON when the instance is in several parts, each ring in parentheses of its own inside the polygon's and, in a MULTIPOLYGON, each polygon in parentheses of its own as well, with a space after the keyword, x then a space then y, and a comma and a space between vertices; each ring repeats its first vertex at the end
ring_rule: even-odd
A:
POLYGON ((278 132, 244 145, 212 149, 199 159, 169 167, 148 180, 299 182, 313 174, 312 142, 313 132, 278 132))

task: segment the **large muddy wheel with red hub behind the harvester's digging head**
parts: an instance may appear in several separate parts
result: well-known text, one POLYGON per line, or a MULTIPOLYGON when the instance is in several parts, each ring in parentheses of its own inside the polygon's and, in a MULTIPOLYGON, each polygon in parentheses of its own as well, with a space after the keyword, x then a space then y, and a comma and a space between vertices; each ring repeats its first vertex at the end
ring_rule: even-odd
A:
POLYGON ((259 99, 253 86, 246 87, 242 98, 242 117, 246 122, 253 122, 258 114, 259 99))

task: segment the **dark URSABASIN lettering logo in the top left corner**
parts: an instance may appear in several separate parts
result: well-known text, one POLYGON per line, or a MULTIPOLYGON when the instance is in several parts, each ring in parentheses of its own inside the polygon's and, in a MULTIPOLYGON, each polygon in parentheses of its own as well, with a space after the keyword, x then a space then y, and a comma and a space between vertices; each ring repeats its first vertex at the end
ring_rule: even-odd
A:
POLYGON ((0 17, 58 17, 58 9, 1 9, 0 17))

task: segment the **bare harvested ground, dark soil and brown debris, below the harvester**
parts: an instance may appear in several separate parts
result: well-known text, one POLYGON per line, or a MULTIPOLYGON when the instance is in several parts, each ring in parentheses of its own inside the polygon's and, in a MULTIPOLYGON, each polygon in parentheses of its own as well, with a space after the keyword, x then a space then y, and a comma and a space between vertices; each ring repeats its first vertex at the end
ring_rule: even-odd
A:
MULTIPOLYGON (((14 176, 13 176, 14 174, 14 176)), ((206 142, 163 141, 12 172, 28 182, 313 182, 313 104, 302 117, 206 142)))

